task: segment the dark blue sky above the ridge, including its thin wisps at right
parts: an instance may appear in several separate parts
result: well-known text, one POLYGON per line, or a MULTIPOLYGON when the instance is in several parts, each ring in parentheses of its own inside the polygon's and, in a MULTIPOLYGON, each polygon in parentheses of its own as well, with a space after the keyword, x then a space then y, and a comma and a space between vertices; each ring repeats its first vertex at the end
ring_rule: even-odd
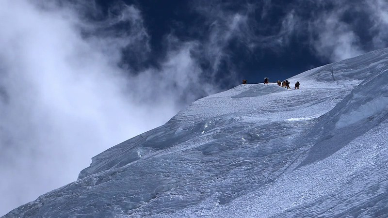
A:
MULTIPOLYGON (((133 6, 140 12, 150 51, 123 49, 122 67, 131 74, 159 67, 172 49, 169 37, 195 42, 192 56, 221 89, 248 83, 284 80, 308 69, 386 47, 380 0, 97 0, 91 19, 120 16, 133 6), (373 5, 377 5, 377 8, 373 5), (99 13, 96 13, 96 8, 99 13), (241 18, 230 30, 234 18, 241 18), (223 38, 225 35, 231 34, 223 38), (378 39, 376 38, 378 37, 378 39), (217 39, 218 38, 218 39, 217 39), (207 47, 216 47, 215 53, 207 47), (215 58, 217 54, 219 57, 215 58), (232 76, 231 76, 232 75, 232 76)), ((383 5, 384 6, 384 5, 383 5)), ((115 23, 113 34, 133 29, 115 23)), ((104 30, 101 30, 104 31, 104 30)), ((112 32, 111 32, 112 33, 112 32)))

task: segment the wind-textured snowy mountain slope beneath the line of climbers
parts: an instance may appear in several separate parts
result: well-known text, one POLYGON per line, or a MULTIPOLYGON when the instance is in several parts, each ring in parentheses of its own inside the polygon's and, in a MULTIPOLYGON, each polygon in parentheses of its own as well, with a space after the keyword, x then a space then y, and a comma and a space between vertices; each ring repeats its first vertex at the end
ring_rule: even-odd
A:
POLYGON ((387 217, 387 69, 382 49, 199 99, 5 217, 387 217))

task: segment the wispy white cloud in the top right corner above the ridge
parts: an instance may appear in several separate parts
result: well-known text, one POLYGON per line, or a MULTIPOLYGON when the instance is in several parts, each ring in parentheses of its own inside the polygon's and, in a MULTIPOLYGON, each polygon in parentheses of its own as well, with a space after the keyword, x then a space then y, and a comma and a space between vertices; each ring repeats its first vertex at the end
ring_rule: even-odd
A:
POLYGON ((299 0, 295 5, 283 20, 282 29, 288 30, 284 38, 305 34, 312 51, 324 60, 336 62, 388 45, 386 1, 299 0), (307 5, 309 12, 300 9, 307 5), (371 26, 360 26, 359 19, 371 26))

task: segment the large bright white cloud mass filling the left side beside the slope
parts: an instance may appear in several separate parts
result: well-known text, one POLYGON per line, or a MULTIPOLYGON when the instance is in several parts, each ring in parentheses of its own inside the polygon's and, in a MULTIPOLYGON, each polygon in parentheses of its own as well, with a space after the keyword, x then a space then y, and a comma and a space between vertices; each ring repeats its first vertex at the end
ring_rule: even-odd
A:
POLYGON ((217 89, 199 79, 190 42, 175 42, 159 68, 124 66, 123 49, 146 59, 151 48, 141 12, 118 9, 91 21, 81 4, 0 2, 0 214, 74 181, 92 156, 217 89))

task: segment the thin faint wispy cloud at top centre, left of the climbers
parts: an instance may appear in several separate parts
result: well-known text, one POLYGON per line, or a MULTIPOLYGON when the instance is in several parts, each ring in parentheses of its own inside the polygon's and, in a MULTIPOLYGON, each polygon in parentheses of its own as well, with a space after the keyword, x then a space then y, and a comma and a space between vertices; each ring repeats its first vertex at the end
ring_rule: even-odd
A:
POLYGON ((237 41, 242 49, 248 48, 250 51, 257 46, 253 26, 249 25, 252 21, 249 14, 254 12, 249 7, 255 6, 247 4, 242 10, 233 11, 226 9, 230 4, 199 1, 193 5, 194 10, 205 18, 203 27, 207 27, 203 30, 206 32, 206 40, 202 42, 200 52, 211 63, 210 78, 216 78, 218 81, 220 78, 216 77, 216 74, 222 70, 223 64, 224 67, 227 65, 229 70, 228 74, 223 74, 223 79, 234 80, 237 77, 237 72, 233 69, 233 53, 229 50, 233 41, 237 41))

